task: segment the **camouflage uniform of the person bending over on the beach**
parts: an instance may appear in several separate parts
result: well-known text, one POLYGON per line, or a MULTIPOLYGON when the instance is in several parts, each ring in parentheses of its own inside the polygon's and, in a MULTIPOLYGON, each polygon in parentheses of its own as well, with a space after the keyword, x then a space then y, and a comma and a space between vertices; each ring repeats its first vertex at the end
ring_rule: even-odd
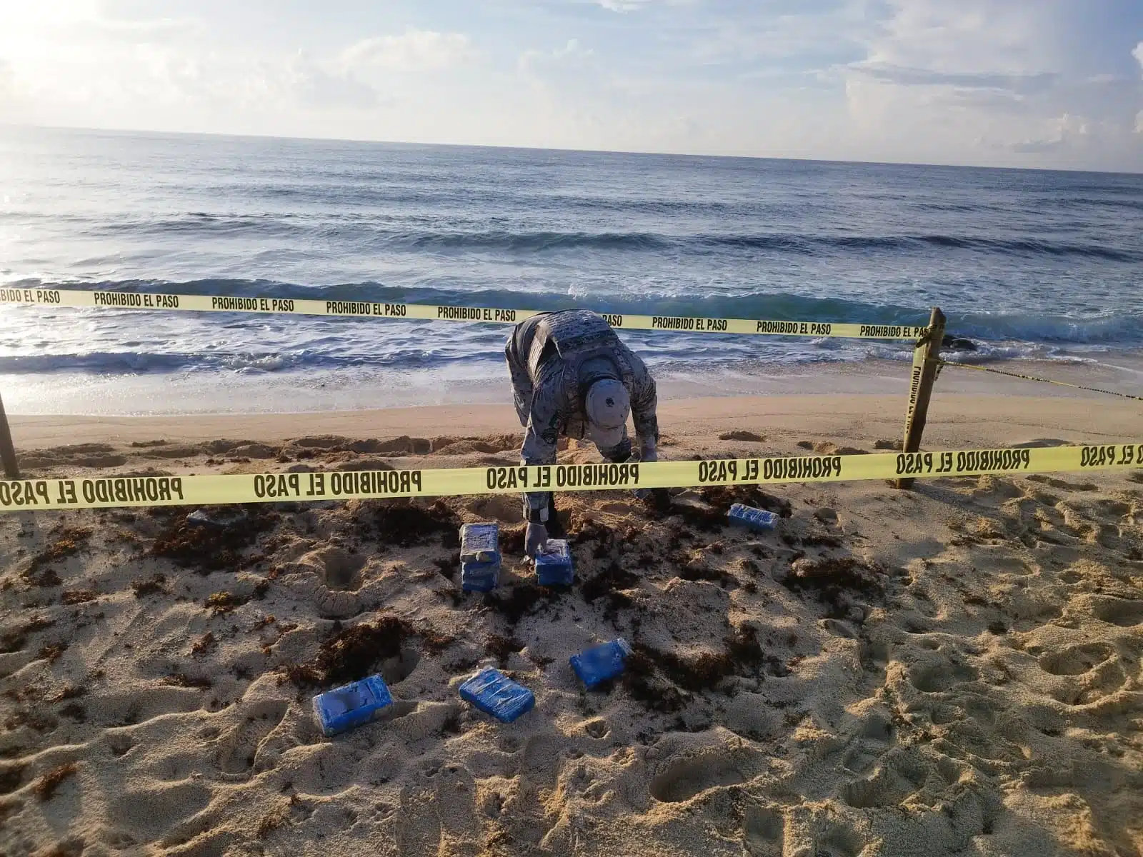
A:
MULTIPOLYGON (((631 415, 642 450, 658 442, 655 379, 647 367, 620 342, 602 317, 588 310, 542 313, 517 325, 504 346, 512 376, 512 394, 520 425, 528 431, 520 449, 526 465, 554 464, 559 438, 588 434, 584 395, 597 381, 615 379, 631 400, 631 415)), ((600 454, 613 462, 631 456, 631 440, 600 454)), ((523 512, 541 510, 546 520, 549 491, 525 495, 523 512)))

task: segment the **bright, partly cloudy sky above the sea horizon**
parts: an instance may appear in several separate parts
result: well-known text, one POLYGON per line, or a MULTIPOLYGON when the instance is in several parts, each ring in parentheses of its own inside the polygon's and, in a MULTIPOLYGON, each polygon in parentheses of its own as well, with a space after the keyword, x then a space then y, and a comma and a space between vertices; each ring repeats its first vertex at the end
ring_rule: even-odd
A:
POLYGON ((0 0, 0 122, 1143 171, 1143 0, 0 0))

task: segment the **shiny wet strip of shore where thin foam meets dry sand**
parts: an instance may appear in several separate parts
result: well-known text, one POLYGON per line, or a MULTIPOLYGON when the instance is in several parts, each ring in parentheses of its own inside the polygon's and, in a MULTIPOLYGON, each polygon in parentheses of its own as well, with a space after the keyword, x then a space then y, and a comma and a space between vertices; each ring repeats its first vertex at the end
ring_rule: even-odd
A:
MULTIPOLYGON (((1116 363, 1009 360, 989 368, 1137 394, 1143 387, 1143 355, 1120 354, 1116 363)), ((768 365, 733 361, 718 371, 654 370, 660 401, 693 399, 821 397, 902 397, 908 394, 909 363, 868 359, 861 362, 768 365)), ((223 415, 370 413, 409 408, 495 407, 511 399, 503 367, 422 371, 0 374, 9 417, 214 418, 223 415)), ((935 397, 1078 398, 1129 401, 1056 384, 958 369, 942 370, 935 397)))

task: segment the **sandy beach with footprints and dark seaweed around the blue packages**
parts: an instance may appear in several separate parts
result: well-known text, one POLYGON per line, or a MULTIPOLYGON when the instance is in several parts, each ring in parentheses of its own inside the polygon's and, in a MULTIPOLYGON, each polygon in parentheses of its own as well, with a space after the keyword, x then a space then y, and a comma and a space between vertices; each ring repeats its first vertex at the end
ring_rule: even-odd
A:
MULTIPOLYGON (((925 446, 1137 438, 1137 402, 942 394, 925 446)), ((903 395, 677 399, 664 458, 872 451, 903 395)), ((472 466, 511 408, 13 418, 25 472, 472 466)), ((572 443, 561 459, 596 460, 572 443)), ((0 516, 0 852, 1143 854, 1143 471, 560 499, 535 585, 515 498, 0 516), (741 500, 772 532, 724 526, 741 500), (501 523, 501 587, 457 528, 501 523), (586 692, 568 657, 624 636, 586 692), (461 702, 480 666, 536 708, 461 702), (310 699, 382 673, 383 721, 310 699)))

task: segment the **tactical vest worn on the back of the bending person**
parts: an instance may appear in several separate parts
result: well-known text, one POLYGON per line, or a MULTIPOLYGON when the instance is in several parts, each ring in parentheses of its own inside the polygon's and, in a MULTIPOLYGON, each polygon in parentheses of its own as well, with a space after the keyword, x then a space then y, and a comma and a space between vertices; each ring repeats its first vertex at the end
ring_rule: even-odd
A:
POLYGON ((563 431, 572 438, 582 438, 586 433, 588 416, 580 390, 580 368, 592 358, 607 358, 630 395, 634 389, 634 373, 628 360, 628 349, 600 315, 590 310, 567 310, 545 314, 536 323, 528 350, 528 373, 533 379, 539 378, 541 366, 557 357, 563 365, 559 376, 563 413, 567 414, 563 431))

